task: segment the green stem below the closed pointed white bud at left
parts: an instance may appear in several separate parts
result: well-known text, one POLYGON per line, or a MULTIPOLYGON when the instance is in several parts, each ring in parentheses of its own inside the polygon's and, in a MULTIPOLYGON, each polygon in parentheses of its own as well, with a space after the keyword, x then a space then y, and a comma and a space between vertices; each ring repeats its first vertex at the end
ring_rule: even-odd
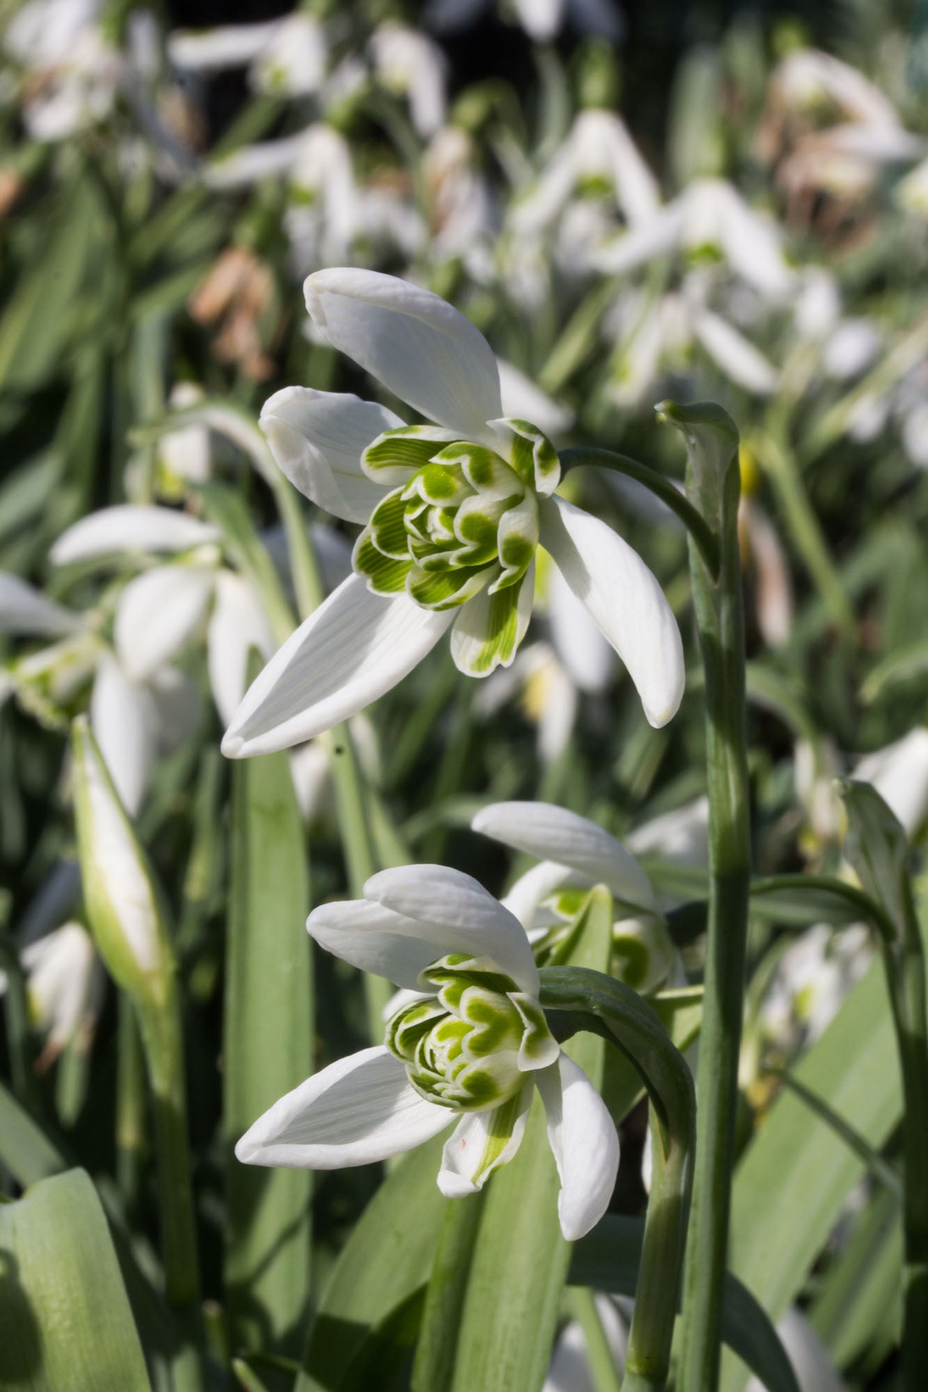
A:
POLYGON ((174 1386, 177 1392, 201 1392, 205 1384, 199 1353, 199 1260, 187 1130, 184 1036, 173 979, 166 980, 157 1001, 139 1005, 138 1020, 152 1087, 164 1297, 177 1315, 180 1331, 174 1386))

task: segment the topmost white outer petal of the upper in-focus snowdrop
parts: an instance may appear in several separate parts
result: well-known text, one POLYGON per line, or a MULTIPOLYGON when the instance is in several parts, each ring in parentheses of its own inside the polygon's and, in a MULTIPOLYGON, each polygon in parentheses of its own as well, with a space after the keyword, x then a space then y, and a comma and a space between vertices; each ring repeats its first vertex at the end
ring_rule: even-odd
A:
POLYGON ((305 283, 307 309, 340 352, 429 420, 488 438, 503 413, 493 349, 446 301, 396 276, 320 270, 305 283))

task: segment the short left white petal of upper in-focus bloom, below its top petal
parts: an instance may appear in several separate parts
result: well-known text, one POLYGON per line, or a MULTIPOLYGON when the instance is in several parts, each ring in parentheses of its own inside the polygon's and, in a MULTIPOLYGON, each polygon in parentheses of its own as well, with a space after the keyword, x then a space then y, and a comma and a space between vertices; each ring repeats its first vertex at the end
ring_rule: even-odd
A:
POLYGON ((261 411, 270 452, 294 487, 346 522, 366 522, 389 493, 364 473, 361 454, 401 425, 375 401, 311 387, 284 387, 261 411))

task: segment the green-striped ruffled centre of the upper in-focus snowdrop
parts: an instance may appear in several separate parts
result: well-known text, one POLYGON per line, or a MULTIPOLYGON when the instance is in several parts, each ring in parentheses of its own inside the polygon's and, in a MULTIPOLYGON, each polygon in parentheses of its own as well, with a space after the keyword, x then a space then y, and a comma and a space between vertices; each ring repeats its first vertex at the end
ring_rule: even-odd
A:
POLYGON ((453 610, 484 594, 486 636, 468 670, 484 675, 516 654, 521 611, 531 608, 529 568, 539 536, 538 501, 560 464, 525 420, 493 422, 500 451, 440 426, 401 426, 361 455, 369 479, 390 487, 354 547, 354 569, 375 594, 405 592, 426 610, 453 610), (503 454, 507 457, 504 458, 503 454))

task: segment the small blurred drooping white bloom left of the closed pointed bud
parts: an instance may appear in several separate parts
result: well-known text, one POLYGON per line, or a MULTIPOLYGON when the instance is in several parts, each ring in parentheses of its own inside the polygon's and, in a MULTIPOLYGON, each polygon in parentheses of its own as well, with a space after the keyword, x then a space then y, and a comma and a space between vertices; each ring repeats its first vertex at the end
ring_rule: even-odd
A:
MULTIPOLYGON (((63 923, 20 952, 35 1029, 45 1036, 40 1065, 52 1063, 75 1037, 93 1030, 103 998, 103 966, 86 930, 63 923)), ((7 976, 0 972, 0 995, 7 976)))

